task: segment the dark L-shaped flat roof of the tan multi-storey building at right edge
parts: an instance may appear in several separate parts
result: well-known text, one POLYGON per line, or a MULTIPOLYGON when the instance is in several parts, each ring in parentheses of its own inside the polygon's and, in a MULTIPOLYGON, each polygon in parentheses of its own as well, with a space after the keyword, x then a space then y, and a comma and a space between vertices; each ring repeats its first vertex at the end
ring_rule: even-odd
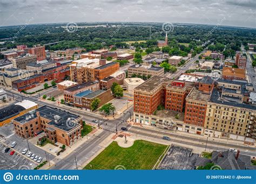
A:
POLYGON ((218 91, 217 89, 213 89, 211 97, 210 97, 210 102, 223 104, 223 105, 229 105, 232 107, 251 109, 251 110, 256 109, 256 106, 254 106, 254 105, 223 100, 220 97, 221 97, 221 92, 218 91))

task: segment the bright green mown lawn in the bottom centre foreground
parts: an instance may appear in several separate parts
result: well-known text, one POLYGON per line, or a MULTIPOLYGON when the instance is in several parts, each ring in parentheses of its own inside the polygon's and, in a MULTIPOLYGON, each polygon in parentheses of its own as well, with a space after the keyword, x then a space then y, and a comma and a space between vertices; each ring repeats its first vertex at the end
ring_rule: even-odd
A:
POLYGON ((123 148, 113 141, 84 169, 152 169, 166 145, 136 140, 131 147, 123 148))

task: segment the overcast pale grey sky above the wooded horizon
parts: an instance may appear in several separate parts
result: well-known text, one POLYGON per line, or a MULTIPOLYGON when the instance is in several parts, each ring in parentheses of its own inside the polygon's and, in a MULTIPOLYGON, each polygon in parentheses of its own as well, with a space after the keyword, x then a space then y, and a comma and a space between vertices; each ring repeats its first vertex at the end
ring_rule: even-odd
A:
POLYGON ((170 22, 256 27, 256 0, 0 0, 0 26, 170 22))

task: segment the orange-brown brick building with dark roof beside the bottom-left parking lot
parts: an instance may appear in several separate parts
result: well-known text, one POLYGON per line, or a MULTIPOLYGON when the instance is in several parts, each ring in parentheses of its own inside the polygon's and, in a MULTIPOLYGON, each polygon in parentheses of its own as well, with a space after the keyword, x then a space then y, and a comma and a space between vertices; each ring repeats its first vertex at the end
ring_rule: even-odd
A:
POLYGON ((81 139, 82 116, 44 105, 13 119, 15 133, 22 138, 44 131, 53 143, 71 146, 81 139))

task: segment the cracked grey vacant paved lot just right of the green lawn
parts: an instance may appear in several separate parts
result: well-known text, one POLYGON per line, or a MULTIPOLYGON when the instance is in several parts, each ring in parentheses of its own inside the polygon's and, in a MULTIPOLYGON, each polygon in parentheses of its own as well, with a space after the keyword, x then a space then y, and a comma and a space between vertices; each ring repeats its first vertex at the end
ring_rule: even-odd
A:
POLYGON ((199 154, 186 147, 172 145, 166 153, 158 169, 164 170, 192 170, 197 162, 199 154))

